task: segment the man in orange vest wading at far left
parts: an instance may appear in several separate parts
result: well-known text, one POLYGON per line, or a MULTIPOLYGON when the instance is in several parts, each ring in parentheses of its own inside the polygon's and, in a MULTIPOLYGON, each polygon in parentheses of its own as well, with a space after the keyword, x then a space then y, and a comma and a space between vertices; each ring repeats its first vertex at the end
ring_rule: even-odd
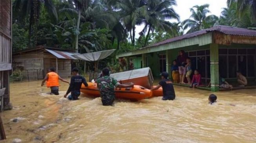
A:
POLYGON ((59 95, 59 80, 66 82, 69 84, 69 82, 65 79, 62 79, 56 72, 55 68, 50 68, 48 70, 47 75, 45 76, 44 80, 42 81, 41 86, 44 86, 44 82, 47 81, 47 88, 51 88, 51 93, 54 95, 59 95))

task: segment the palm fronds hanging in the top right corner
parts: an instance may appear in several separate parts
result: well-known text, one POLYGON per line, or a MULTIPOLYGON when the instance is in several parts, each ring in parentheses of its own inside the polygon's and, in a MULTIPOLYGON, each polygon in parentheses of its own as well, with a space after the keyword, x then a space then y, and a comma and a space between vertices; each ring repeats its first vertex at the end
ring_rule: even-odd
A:
POLYGON ((232 3, 236 3, 239 18, 249 10, 252 20, 256 22, 256 0, 227 0, 228 7, 231 7, 232 3))

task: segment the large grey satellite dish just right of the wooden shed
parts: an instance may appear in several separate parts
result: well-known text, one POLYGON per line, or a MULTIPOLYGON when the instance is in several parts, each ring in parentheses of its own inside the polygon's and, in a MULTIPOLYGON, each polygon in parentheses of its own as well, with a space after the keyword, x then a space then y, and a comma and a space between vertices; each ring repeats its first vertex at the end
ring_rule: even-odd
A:
POLYGON ((109 55, 111 55, 116 49, 112 50, 104 50, 99 52, 85 53, 85 54, 74 54, 73 57, 83 61, 99 61, 105 59, 109 55))

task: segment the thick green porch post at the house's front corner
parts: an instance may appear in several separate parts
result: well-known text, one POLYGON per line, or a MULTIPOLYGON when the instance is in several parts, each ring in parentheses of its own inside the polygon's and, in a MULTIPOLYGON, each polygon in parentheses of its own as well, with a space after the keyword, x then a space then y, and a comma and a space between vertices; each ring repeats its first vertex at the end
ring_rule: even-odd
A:
POLYGON ((211 91, 219 91, 219 47, 218 44, 210 44, 211 61, 211 91))

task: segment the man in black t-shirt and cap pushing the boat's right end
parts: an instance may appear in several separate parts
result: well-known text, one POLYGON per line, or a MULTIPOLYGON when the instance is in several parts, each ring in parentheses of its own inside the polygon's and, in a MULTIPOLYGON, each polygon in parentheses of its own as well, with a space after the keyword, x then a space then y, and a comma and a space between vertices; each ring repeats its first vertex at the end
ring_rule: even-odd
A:
POLYGON ((162 100, 174 100, 175 99, 175 91, 172 85, 171 80, 168 79, 168 73, 166 71, 162 72, 162 80, 159 84, 152 88, 151 90, 157 90, 162 86, 163 88, 163 98, 162 100))

